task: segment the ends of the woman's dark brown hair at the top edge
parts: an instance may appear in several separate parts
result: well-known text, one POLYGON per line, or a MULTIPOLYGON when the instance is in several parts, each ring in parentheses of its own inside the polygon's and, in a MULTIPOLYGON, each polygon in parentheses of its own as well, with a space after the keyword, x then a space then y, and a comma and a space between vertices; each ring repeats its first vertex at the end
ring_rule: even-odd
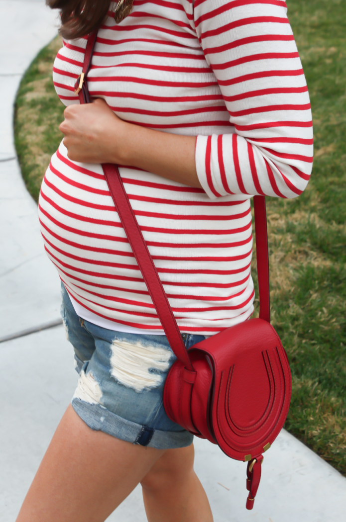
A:
POLYGON ((107 15, 111 0, 46 0, 60 9, 60 34, 66 39, 84 37, 97 29, 107 15))

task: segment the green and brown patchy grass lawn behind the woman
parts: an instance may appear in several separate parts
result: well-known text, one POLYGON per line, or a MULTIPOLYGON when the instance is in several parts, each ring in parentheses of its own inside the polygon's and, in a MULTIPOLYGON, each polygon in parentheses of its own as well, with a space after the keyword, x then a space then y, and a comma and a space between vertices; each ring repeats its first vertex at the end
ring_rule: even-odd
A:
MULTIPOLYGON (((272 323, 293 377, 285 428, 346 475, 346 2, 287 6, 312 101, 315 162, 302 196, 267 198, 272 323)), ((55 39, 40 52, 16 102, 17 152, 36 200, 62 137, 51 80, 60 46, 55 39)))

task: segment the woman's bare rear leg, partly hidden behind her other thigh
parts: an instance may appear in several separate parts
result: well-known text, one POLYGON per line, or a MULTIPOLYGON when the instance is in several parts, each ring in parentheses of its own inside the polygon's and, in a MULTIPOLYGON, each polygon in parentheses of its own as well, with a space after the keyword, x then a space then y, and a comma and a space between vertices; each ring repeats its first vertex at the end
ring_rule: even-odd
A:
POLYGON ((194 449, 168 449, 141 480, 149 522, 212 522, 205 491, 193 470, 194 449))

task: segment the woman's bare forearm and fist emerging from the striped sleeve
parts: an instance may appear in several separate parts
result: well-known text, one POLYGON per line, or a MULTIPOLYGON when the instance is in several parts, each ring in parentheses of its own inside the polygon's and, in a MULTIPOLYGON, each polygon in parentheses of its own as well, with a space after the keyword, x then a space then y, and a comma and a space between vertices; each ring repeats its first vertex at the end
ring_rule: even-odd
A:
POLYGON ((70 105, 64 115, 59 128, 72 161, 131 165, 202 188, 194 159, 195 136, 153 131, 124 122, 101 99, 70 105))

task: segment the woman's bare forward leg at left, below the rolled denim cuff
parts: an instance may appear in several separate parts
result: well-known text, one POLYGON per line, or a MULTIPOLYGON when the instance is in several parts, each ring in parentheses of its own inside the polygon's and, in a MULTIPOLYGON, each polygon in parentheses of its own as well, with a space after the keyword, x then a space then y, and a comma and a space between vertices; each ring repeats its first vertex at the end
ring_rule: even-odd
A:
POLYGON ((90 430, 69 406, 17 522, 103 522, 164 453, 90 430))

